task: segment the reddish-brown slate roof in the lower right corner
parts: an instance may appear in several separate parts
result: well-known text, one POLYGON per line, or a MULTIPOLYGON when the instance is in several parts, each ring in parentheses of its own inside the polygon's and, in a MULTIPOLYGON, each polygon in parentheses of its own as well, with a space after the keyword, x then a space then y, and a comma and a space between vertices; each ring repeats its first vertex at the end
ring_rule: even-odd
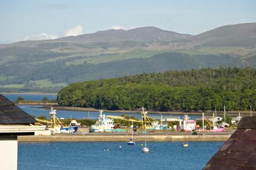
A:
POLYGON ((256 117, 243 117, 204 169, 256 169, 256 117))

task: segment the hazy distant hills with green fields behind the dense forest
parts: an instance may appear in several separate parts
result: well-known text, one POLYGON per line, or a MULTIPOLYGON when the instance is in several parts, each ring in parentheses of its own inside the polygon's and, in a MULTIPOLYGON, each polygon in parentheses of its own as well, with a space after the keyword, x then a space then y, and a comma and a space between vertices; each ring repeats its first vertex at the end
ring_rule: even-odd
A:
MULTIPOLYGON (((256 66, 256 23, 196 36, 156 27, 0 45, 0 91, 57 90, 142 72, 256 66)), ((51 91, 53 92, 53 91, 51 91)))

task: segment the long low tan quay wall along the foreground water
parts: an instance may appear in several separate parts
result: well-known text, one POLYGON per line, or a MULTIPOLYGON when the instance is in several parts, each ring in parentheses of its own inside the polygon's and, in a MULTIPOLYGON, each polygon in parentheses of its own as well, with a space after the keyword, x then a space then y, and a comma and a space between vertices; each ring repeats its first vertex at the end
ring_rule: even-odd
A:
MULTIPOLYGON (((186 134, 187 141, 227 141, 233 132, 186 134)), ((129 133, 70 133, 55 135, 18 136, 18 142, 103 142, 129 141, 129 133)), ((145 141, 145 134, 135 133, 135 141, 145 141)), ((152 132, 147 134, 148 141, 184 141, 183 133, 152 132)))

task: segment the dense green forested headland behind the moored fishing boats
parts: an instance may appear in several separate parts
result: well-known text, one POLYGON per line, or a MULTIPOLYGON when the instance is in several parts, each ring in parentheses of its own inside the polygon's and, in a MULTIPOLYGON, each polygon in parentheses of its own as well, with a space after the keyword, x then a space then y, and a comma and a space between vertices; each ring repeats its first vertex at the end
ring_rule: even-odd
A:
POLYGON ((246 111, 256 108, 256 69, 247 67, 143 73, 74 83, 60 90, 61 106, 149 111, 246 111))

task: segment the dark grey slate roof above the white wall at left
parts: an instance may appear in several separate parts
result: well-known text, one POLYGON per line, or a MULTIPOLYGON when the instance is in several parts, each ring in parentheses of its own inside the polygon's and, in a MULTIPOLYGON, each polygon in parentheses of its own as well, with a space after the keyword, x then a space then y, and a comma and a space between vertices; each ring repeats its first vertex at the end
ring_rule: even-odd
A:
POLYGON ((0 94, 0 124, 34 124, 35 118, 0 94))

